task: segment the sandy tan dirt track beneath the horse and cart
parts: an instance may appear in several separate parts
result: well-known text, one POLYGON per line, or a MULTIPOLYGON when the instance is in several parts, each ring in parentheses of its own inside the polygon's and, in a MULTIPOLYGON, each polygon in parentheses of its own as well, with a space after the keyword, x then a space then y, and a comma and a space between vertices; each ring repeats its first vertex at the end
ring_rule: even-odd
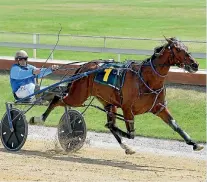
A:
POLYGON ((76 153, 66 154, 54 140, 31 137, 18 152, 8 152, 0 144, 0 164, 1 182, 206 181, 204 158, 147 151, 128 156, 121 148, 90 143, 76 153))

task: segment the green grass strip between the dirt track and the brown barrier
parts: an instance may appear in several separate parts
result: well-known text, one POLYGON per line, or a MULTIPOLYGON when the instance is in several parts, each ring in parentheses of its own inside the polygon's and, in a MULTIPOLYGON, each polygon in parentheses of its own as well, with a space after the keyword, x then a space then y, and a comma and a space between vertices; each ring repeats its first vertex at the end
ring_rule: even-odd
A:
MULTIPOLYGON (((44 79, 43 85, 56 83, 57 80, 44 79)), ((9 86, 9 77, 3 74, 0 80, 1 96, 0 96, 0 114, 5 113, 6 101, 13 101, 13 96, 9 86)), ((196 141, 206 142, 206 112, 205 101, 206 94, 204 87, 196 86, 167 86, 167 101, 171 114, 177 123, 196 141)), ((89 101, 87 101, 89 102, 89 101)), ((94 104, 100 106, 97 101, 94 104)), ((23 109, 23 107, 20 107, 23 109)), ((32 116, 40 116, 45 107, 35 107, 27 113, 27 119, 32 116)), ((83 108, 76 108, 83 111, 83 108)), ((119 111, 121 113, 121 111, 119 111)), ((56 108, 48 117, 46 126, 57 126, 64 109, 56 108)), ((106 123, 106 114, 89 108, 85 113, 85 120, 88 130, 99 132, 108 132, 104 125, 106 123)), ((125 130, 124 123, 118 121, 118 126, 125 130)), ((160 118, 152 114, 138 115, 135 118, 136 134, 141 136, 149 136, 156 138, 178 139, 181 137, 167 126, 160 118)))

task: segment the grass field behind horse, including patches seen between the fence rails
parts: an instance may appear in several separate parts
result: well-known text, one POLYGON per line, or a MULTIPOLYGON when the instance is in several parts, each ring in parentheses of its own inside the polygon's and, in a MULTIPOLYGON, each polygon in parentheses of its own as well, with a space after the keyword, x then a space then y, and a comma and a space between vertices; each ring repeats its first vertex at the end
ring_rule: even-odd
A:
MULTIPOLYGON (((175 0, 0 0, 0 30, 61 34, 206 40, 205 1, 175 0)), ((41 43, 55 44, 57 36, 41 36, 41 43)), ((1 35, 0 41, 32 42, 31 36, 1 35)), ((163 44, 153 41, 110 40, 107 47, 149 49, 163 44)), ((59 45, 102 46, 100 39, 62 37, 59 45)), ((205 52, 204 43, 186 43, 190 52, 205 52)), ((1 48, 0 55, 13 56, 17 49, 1 48)), ((29 50, 30 55, 32 51, 29 50)), ((47 58, 50 51, 38 50, 38 58, 47 58)), ((114 58, 117 55, 55 51, 55 59, 81 60, 114 58)), ((121 59, 142 59, 144 56, 123 55, 121 59)), ((205 60, 199 60, 206 68, 205 60)))

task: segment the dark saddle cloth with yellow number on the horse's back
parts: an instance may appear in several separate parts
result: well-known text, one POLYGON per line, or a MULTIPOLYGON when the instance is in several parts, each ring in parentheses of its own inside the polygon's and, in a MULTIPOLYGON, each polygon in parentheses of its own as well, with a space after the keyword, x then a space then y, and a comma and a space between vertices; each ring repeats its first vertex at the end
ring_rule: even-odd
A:
POLYGON ((120 90, 125 80, 126 69, 124 68, 127 68, 126 64, 107 63, 107 67, 105 70, 96 73, 94 81, 120 90))

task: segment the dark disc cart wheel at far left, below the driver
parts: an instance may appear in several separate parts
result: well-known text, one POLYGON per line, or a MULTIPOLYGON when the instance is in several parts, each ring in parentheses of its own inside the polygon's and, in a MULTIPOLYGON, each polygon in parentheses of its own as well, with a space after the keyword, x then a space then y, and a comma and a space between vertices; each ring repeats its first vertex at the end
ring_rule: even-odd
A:
POLYGON ((28 124, 25 115, 19 109, 12 108, 10 113, 14 131, 11 132, 9 128, 6 112, 0 123, 1 141, 7 150, 18 151, 22 148, 27 139, 28 124))

